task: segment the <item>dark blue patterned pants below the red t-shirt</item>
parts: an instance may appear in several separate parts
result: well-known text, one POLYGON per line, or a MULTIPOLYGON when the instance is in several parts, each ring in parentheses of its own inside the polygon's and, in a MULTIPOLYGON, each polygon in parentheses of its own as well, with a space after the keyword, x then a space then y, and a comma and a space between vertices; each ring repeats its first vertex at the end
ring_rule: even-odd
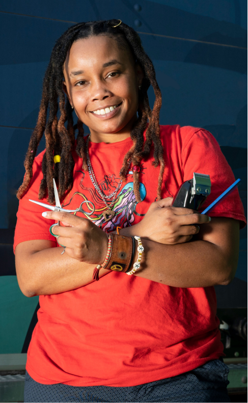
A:
POLYGON ((221 360, 177 377, 129 387, 43 385, 26 372, 24 403, 230 403, 221 360))

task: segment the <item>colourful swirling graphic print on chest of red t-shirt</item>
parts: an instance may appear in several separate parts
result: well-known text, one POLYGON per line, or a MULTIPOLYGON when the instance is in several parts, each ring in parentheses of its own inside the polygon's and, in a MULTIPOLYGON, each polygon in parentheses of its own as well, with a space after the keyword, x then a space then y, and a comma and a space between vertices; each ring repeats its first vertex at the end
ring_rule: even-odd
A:
MULTIPOLYGON (((105 232, 112 232, 117 227, 125 228, 132 225, 135 220, 134 215, 145 216, 145 214, 140 214, 136 212, 135 207, 137 205, 137 202, 133 192, 133 182, 130 181, 127 182, 117 194, 115 203, 111 208, 113 211, 115 211, 115 216, 113 217, 112 220, 105 222, 105 219, 102 215, 102 212, 106 209, 105 203, 103 202, 102 198, 100 197, 99 193, 97 192, 93 184, 92 187, 87 187, 84 185, 85 172, 82 171, 77 172, 80 172, 82 174, 80 180, 80 187, 83 190, 83 192, 75 192, 73 195, 69 193, 64 203, 62 204, 62 207, 70 208, 68 206, 70 206, 72 201, 74 206, 76 197, 79 198, 78 207, 81 204, 82 199, 92 201, 95 206, 95 212, 91 216, 87 216, 87 214, 85 214, 85 217, 93 221, 98 227, 100 227, 105 232), (100 208, 97 208, 97 206, 99 206, 100 208)), ((129 171, 129 174, 132 175, 132 171, 129 171)), ((101 179, 98 182, 98 184, 102 193, 107 196, 115 191, 119 181, 120 178, 116 178, 115 174, 104 175, 104 178, 101 179)), ((143 201, 146 197, 146 188, 143 183, 140 183, 140 195, 141 200, 143 201)), ((77 206, 75 208, 77 208, 77 206)))

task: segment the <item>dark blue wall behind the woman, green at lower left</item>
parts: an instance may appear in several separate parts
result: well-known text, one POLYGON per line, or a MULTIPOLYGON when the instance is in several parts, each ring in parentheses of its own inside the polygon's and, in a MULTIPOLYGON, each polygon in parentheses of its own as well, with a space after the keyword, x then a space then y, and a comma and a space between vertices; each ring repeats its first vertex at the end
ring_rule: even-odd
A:
MULTIPOLYGON (((56 39, 75 22, 98 19, 120 18, 138 31, 162 91, 161 124, 210 130, 235 177, 242 179, 239 191, 246 205, 246 12, 247 0, 0 1, 0 354, 25 351, 38 302, 38 297, 25 298, 16 281, 15 193, 56 39)), ((246 245, 243 229, 236 278, 216 287, 219 307, 246 306, 246 245)))

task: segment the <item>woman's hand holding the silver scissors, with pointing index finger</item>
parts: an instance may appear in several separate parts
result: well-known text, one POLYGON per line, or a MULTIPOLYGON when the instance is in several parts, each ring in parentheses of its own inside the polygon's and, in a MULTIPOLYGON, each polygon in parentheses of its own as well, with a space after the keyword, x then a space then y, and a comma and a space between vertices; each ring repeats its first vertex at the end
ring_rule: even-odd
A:
POLYGON ((65 253, 81 262, 102 264, 108 246, 107 234, 90 220, 64 211, 46 211, 42 216, 48 220, 60 221, 63 226, 52 227, 52 233, 59 235, 58 244, 66 246, 65 253))

